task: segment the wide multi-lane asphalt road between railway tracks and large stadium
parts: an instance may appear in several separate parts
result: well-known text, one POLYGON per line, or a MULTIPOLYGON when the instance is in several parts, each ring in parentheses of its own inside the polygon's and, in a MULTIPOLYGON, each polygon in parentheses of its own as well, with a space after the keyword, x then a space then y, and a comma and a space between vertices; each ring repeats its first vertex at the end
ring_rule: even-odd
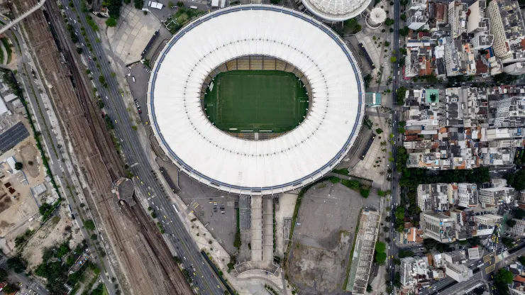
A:
MULTIPOLYGON (((152 173, 153 171, 158 172, 158 169, 151 165, 155 160, 152 157, 148 157, 149 153, 145 150, 149 148, 149 142, 141 141, 138 132, 131 128, 135 126, 136 123, 126 110, 128 105, 126 105, 123 94, 119 92, 120 87, 118 86, 117 79, 111 77, 114 69, 109 65, 107 58, 107 55, 111 55, 111 52, 106 52, 101 43, 96 42, 99 36, 88 25, 85 14, 81 12, 75 13, 72 9, 68 8, 68 1, 62 0, 61 2, 66 9, 67 17, 74 20, 70 23, 77 32, 80 40, 79 44, 82 44, 84 49, 83 55, 88 60, 89 69, 94 75, 92 81, 95 83, 99 95, 104 100, 104 104, 106 105, 104 110, 114 121, 114 131, 119 140, 121 140, 122 152, 127 159, 128 165, 130 165, 130 167, 133 166, 131 167, 131 172, 136 175, 136 177, 133 177, 136 193, 147 197, 152 208, 156 208, 156 206, 159 207, 157 215, 165 229, 165 237, 172 243, 173 247, 177 249, 177 255, 181 257, 184 268, 192 269, 190 273, 199 290, 204 294, 224 294, 223 285, 204 260, 204 257, 202 257, 199 248, 185 229, 184 222, 175 211, 172 203, 166 198, 164 189, 162 189, 158 183, 155 174, 152 173), (77 15, 80 16, 80 21, 78 21, 77 15), (81 25, 86 29, 86 37, 92 44, 93 52, 89 52, 89 49, 85 46, 84 36, 80 34, 81 25), (89 60, 89 57, 91 57, 91 60, 89 60), (98 62, 101 67, 100 70, 96 68, 96 62, 93 60, 93 57, 96 57, 96 62, 98 62), (106 78, 108 84, 107 89, 99 83, 99 75, 104 75, 106 78), (195 270, 193 271, 193 269, 195 270)), ((81 11, 80 1, 73 0, 73 3, 77 11, 81 11)), ((75 52, 74 54, 77 53, 75 52)), ((131 113, 134 114, 135 111, 133 110, 131 113)))

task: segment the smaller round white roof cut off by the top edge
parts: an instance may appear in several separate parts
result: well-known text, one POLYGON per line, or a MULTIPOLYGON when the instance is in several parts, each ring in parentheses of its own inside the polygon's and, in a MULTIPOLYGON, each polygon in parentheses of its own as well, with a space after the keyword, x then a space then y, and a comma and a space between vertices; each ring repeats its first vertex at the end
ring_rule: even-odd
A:
POLYGON ((311 13, 326 21, 346 21, 363 12, 372 0, 302 0, 311 13))

